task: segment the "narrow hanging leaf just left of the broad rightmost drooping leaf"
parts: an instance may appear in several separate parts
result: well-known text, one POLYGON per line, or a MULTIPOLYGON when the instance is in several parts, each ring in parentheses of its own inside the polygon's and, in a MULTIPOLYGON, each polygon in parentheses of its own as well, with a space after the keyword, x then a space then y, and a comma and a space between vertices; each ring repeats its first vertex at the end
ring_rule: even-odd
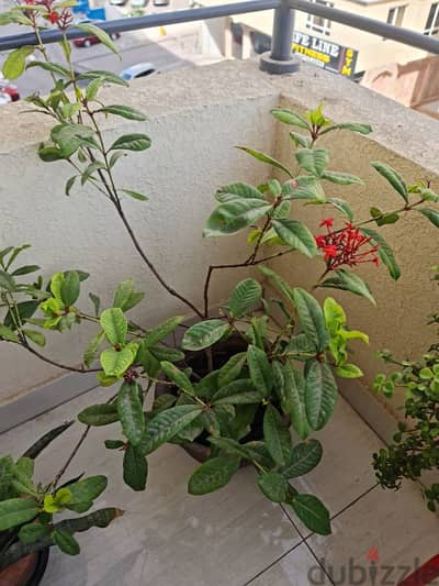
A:
POLYGON ((309 434, 305 410, 305 379, 301 371, 288 362, 283 369, 285 400, 284 412, 290 413, 293 428, 302 440, 309 434))

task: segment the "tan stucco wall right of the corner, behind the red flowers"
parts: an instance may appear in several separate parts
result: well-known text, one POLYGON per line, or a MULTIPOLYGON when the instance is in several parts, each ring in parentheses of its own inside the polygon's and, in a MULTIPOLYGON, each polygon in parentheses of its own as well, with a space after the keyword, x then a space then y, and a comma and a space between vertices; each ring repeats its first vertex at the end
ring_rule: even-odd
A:
MULTIPOLYGON (((397 209, 403 200, 370 166, 382 161, 395 167, 407 183, 430 177, 432 187, 439 190, 437 141, 439 123, 386 98, 379 97, 354 84, 337 78, 337 82, 314 68, 302 71, 289 80, 274 81, 281 86, 281 104, 304 111, 325 100, 326 114, 335 122, 363 122, 374 129, 373 134, 362 136, 346 131, 329 134, 322 146, 330 150, 329 168, 360 176, 364 186, 335 186, 325 183, 329 196, 341 197, 352 207, 358 221, 368 219, 369 208, 397 209)), ((288 126, 278 124, 277 157, 296 167, 294 148, 288 126)), ((319 221, 341 214, 328 207, 296 206, 296 217, 303 219, 314 233, 322 233, 319 221)), ((373 228, 373 225, 371 226, 373 228)), ((394 281, 386 268, 373 265, 358 267, 358 273, 372 287, 376 308, 368 300, 333 289, 320 289, 317 296, 333 296, 347 310, 350 327, 370 335, 370 346, 357 343, 353 356, 363 369, 362 384, 370 387, 378 372, 385 371, 374 352, 392 350, 399 357, 416 357, 435 341, 436 330, 427 328, 427 316, 438 310, 439 290, 429 280, 429 268, 438 264, 438 230, 421 214, 409 213, 394 225, 379 229, 393 247, 402 268, 402 277, 394 281)), ((324 264, 302 256, 279 259, 275 268, 292 284, 311 286, 322 274, 324 264)), ((395 399, 392 407, 399 401, 395 399)), ((397 413, 396 413, 397 414, 397 413)))

